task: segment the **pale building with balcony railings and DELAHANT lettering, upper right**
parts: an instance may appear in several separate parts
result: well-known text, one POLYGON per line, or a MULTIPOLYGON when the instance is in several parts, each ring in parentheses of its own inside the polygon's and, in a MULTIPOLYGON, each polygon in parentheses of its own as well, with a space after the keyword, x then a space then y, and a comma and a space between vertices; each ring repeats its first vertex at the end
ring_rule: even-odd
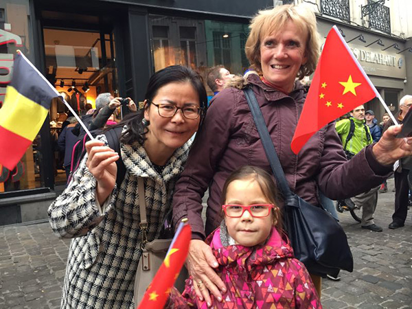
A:
MULTIPOLYGON (((403 95, 412 94, 412 1, 296 0, 317 14, 323 41, 333 25, 352 49, 392 113, 403 95)), ((375 99, 365 104, 378 122, 386 112, 375 99)))

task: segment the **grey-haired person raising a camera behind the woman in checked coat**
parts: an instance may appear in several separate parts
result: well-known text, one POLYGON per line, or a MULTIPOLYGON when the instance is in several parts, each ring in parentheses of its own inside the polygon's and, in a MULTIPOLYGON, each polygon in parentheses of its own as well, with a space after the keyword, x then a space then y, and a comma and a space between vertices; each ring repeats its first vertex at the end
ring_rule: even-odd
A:
MULTIPOLYGON (((137 112, 137 106, 130 98, 113 98, 110 93, 100 93, 96 98, 97 115, 89 125, 89 130, 104 128, 108 121, 115 122, 114 112, 119 106, 127 106, 130 112, 137 112)), ((111 123, 111 124, 112 124, 111 123)))

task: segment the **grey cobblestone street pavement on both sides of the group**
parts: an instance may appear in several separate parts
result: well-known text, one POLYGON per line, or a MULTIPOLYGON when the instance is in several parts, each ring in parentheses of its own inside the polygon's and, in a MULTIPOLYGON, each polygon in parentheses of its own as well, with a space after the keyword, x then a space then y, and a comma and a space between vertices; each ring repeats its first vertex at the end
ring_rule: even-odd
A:
MULTIPOLYGON (((393 180, 379 194, 376 233, 340 214, 354 255, 354 272, 323 280, 323 308, 412 308, 412 209, 405 227, 389 230, 393 180)), ((69 240, 48 223, 0 227, 0 308, 59 308, 69 240)))

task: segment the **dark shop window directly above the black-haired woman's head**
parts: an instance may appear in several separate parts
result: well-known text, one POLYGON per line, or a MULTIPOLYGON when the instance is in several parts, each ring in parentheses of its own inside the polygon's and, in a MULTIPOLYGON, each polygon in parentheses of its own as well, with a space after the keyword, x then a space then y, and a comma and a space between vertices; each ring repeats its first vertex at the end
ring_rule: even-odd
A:
POLYGON ((151 15, 150 27, 155 71, 185 65, 205 78, 207 69, 215 65, 224 65, 236 74, 249 67, 244 54, 247 24, 151 15))

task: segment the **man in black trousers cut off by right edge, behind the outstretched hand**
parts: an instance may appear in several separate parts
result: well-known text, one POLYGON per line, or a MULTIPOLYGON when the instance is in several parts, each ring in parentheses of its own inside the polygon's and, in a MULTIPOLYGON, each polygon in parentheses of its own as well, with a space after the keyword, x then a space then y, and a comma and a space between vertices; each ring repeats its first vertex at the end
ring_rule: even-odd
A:
MULTIPOLYGON (((395 117, 398 122, 402 122, 407 115, 409 108, 412 106, 412 95, 405 95, 399 102, 399 113, 395 117)), ((384 132, 393 126, 392 119, 389 119, 385 124, 384 132)), ((409 197, 409 182, 408 174, 412 169, 412 157, 406 157, 399 161, 399 166, 395 170, 395 212, 392 215, 392 222, 389 229, 398 229, 403 227, 408 215, 408 197, 409 197)))

